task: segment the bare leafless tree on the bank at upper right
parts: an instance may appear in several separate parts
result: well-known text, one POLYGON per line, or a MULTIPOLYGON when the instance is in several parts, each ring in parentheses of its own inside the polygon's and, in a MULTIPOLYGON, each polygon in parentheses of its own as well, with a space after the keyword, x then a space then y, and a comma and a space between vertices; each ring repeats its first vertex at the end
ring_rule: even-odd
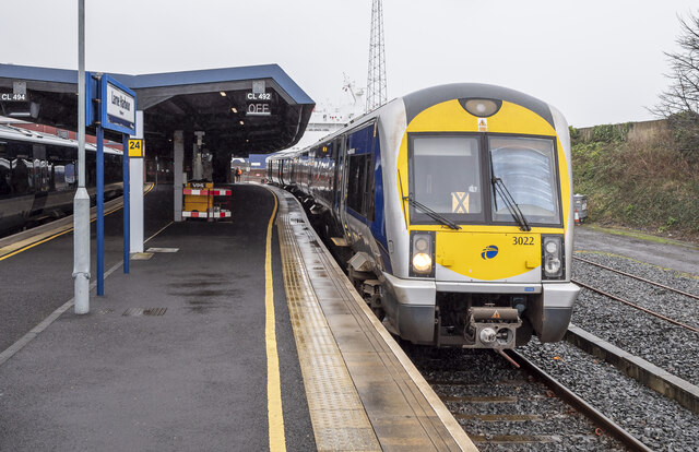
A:
POLYGON ((667 118, 683 153, 699 158, 699 15, 679 17, 678 52, 665 55, 670 59, 672 81, 652 111, 667 118))

